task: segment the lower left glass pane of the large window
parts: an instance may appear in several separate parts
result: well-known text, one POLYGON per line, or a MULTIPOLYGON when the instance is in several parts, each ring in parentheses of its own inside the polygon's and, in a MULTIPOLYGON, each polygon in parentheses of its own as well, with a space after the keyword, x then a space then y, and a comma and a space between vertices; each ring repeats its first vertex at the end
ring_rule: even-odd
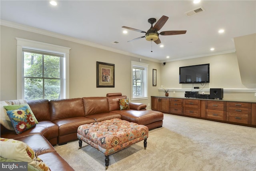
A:
POLYGON ((24 93, 26 100, 43 99, 43 79, 24 78, 24 93))

